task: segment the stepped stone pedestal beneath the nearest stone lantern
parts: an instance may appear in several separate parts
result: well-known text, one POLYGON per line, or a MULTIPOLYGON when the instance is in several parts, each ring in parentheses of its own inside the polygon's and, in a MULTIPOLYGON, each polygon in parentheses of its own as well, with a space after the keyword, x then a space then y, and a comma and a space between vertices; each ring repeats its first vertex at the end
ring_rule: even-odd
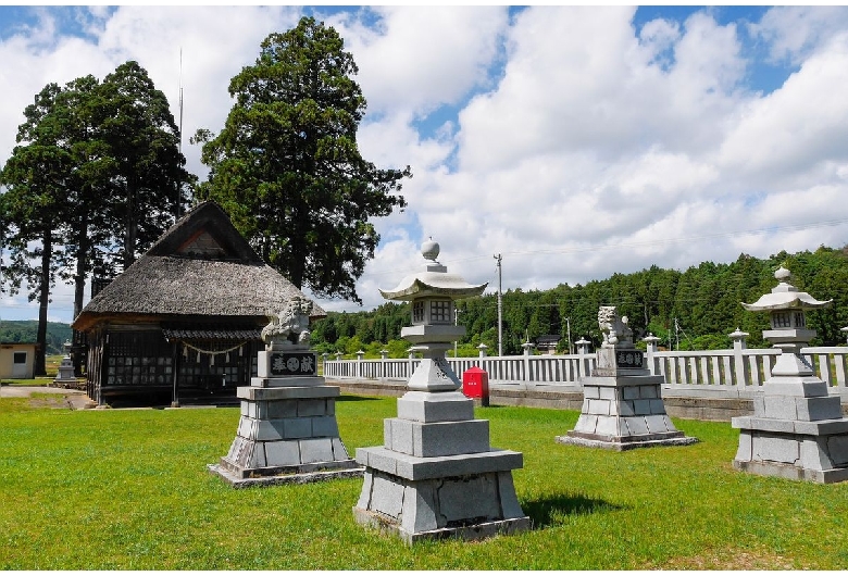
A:
POLYGON ((353 514, 360 524, 412 543, 479 539, 531 527, 512 484, 520 452, 489 447, 488 421, 460 392, 412 391, 385 421, 385 444, 360 448, 365 481, 353 514))

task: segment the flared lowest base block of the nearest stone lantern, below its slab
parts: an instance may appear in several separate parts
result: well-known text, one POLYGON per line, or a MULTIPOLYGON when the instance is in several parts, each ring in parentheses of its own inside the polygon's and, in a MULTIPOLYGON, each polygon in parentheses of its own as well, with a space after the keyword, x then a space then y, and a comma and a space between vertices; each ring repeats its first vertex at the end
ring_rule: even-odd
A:
POLYGON ((412 543, 425 538, 477 539, 529 528, 509 469, 412 480, 365 468, 353 514, 412 543))

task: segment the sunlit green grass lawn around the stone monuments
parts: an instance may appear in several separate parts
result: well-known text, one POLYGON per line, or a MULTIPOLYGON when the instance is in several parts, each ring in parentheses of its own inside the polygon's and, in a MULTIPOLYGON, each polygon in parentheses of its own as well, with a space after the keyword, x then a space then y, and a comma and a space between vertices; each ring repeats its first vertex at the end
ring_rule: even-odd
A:
MULTIPOLYGON (((848 483, 735 472, 729 424, 675 421, 701 441, 611 452, 553 441, 577 412, 477 409, 492 446, 524 454, 534 529, 408 547, 354 522, 360 478, 236 490, 211 475, 237 409, 45 404, 0 400, 3 569, 848 567, 848 483)), ((383 443, 396 403, 345 396, 337 414, 352 453, 383 443)))

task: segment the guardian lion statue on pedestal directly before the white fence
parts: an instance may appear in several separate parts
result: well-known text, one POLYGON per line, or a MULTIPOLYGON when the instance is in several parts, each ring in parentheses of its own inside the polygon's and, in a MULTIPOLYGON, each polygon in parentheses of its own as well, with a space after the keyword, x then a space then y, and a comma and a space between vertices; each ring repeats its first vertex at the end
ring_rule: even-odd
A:
POLYGON ((651 376, 645 354, 633 345, 627 316, 615 306, 600 306, 598 325, 603 342, 591 376, 581 378, 583 409, 577 424, 560 443, 631 450, 697 442, 672 424, 662 401, 662 375, 651 376))

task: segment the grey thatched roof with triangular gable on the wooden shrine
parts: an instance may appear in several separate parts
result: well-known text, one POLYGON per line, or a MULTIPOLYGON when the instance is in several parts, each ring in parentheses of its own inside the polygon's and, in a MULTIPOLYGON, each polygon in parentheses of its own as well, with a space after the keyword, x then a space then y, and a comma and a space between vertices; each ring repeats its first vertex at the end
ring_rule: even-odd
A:
MULTIPOLYGON (((262 263, 214 202, 204 202, 172 226, 136 263, 83 309, 73 323, 86 330, 122 315, 267 316, 295 297, 288 279, 262 263)), ((325 316, 317 304, 311 317, 325 316)))

